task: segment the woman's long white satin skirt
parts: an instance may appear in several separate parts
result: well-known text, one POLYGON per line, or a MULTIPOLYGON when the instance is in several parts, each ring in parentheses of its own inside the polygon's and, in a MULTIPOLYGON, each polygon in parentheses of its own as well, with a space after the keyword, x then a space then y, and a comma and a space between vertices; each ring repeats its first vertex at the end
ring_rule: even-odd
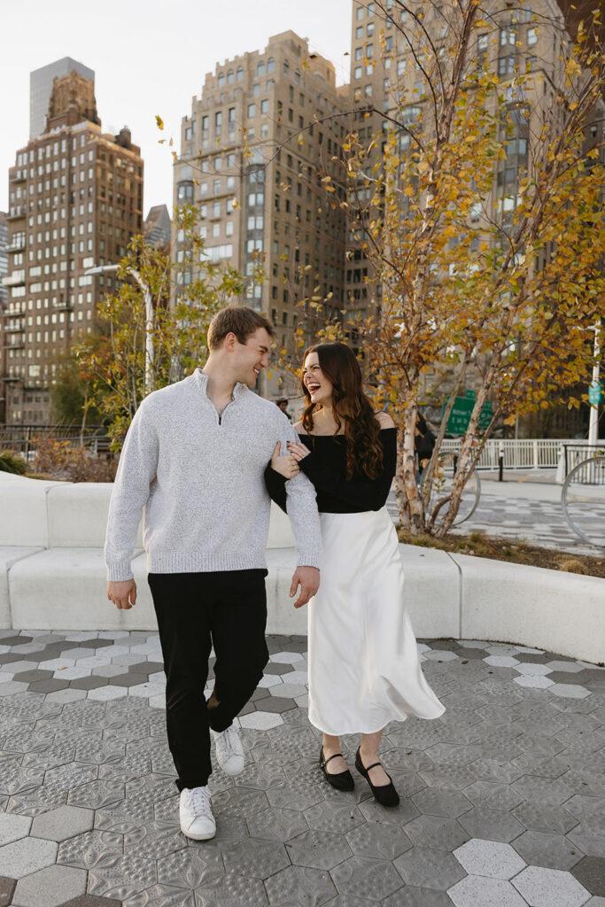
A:
POLYGON ((321 581, 308 604, 309 721, 340 736, 443 715, 420 668, 386 508, 321 513, 320 521, 321 581))

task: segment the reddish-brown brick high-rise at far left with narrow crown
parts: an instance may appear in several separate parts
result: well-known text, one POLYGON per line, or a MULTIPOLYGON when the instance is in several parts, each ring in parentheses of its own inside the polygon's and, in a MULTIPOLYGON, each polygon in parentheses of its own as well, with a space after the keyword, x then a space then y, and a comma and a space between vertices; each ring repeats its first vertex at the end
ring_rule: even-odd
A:
POLYGON ((122 258, 141 232, 140 149, 124 127, 102 132, 93 82, 54 79, 43 134, 9 170, 8 302, 0 317, 0 376, 7 424, 44 424, 56 367, 90 331, 112 278, 85 272, 122 258))

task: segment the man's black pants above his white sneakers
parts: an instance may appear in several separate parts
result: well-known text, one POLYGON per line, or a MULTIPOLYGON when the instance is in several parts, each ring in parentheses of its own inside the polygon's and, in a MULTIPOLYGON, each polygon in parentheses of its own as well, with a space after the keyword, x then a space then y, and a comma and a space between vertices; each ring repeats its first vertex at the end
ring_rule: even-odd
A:
POLYGON ((203 787, 212 771, 210 727, 223 731, 246 705, 268 661, 265 570, 150 573, 166 674, 168 743, 177 786, 203 787), (204 687, 214 646, 214 695, 204 687))

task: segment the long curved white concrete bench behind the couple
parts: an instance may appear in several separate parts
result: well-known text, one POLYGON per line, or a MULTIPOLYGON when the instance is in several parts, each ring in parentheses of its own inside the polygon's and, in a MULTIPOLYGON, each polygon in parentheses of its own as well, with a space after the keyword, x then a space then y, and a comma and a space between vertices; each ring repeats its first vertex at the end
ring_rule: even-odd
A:
MULTIPOLYGON (((0 473, 0 627, 152 629, 139 536, 137 605, 105 595, 102 544, 108 483, 39 482, 0 473)), ((297 554, 288 517, 272 505, 268 632, 305 634, 307 611, 289 598, 297 554)), ((605 580, 401 545, 405 606, 420 638, 491 639, 600 662, 605 580)))

